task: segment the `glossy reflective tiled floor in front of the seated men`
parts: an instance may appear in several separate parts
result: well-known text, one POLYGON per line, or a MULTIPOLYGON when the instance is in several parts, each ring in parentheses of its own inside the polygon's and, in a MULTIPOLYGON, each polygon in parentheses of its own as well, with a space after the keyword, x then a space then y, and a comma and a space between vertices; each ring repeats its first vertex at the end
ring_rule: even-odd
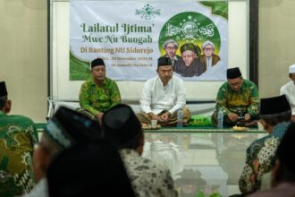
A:
MULTIPOLYGON (((150 151, 149 155, 154 156, 151 159, 171 169, 176 184, 182 180, 181 183, 190 185, 190 188, 202 189, 207 193, 218 191, 223 196, 240 193, 238 179, 244 166, 246 149, 252 141, 262 136, 257 133, 146 135, 146 153, 150 151), (161 143, 164 148, 161 148, 161 143)), ((181 185, 176 185, 179 190, 181 185)))

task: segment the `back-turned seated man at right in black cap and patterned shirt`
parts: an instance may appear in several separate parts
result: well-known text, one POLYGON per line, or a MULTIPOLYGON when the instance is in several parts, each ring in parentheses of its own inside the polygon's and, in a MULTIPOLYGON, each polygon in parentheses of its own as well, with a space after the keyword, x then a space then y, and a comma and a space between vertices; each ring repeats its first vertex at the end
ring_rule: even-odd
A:
POLYGON ((262 176, 271 171, 274 153, 291 122, 291 107, 285 95, 261 99, 260 116, 260 123, 269 134, 253 141, 247 149, 246 165, 239 180, 243 194, 259 190, 262 176))

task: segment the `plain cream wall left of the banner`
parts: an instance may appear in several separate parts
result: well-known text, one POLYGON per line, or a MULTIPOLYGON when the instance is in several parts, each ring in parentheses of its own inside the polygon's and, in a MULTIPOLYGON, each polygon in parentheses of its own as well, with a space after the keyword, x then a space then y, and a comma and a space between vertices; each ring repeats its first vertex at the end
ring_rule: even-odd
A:
POLYGON ((46 0, 0 1, 0 81, 6 81, 11 114, 44 122, 47 95, 46 0))

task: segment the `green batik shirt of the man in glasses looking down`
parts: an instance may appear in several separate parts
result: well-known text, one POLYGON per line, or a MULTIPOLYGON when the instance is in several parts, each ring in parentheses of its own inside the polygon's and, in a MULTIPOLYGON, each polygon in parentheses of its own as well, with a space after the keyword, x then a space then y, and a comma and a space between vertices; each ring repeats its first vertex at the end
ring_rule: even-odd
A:
POLYGON ((238 116, 249 113, 252 117, 258 115, 259 96, 254 82, 243 80, 239 91, 234 91, 228 82, 219 88, 216 98, 216 110, 221 109, 223 115, 230 112, 238 116))

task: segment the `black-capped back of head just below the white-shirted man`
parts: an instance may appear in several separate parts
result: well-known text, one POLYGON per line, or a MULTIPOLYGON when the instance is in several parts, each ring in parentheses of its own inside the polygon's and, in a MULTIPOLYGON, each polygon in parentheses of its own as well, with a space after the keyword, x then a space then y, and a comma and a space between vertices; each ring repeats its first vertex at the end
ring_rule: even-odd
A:
POLYGON ((136 149, 143 131, 139 119, 131 107, 117 105, 105 112, 102 118, 105 138, 113 141, 119 149, 136 149))

